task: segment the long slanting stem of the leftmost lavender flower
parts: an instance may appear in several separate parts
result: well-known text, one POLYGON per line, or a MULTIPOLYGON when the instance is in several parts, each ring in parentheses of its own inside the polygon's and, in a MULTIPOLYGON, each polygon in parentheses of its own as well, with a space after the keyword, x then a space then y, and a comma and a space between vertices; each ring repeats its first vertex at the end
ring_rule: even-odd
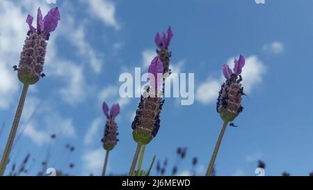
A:
POLYGON ((26 94, 27 94, 28 89, 29 89, 29 85, 24 84, 23 90, 22 90, 22 95, 19 99, 19 105, 17 106, 17 111, 15 113, 15 118, 14 118, 13 125, 12 125, 11 131, 10 131, 10 136, 9 136, 8 141, 6 143, 6 149, 4 150, 3 156, 1 159, 0 176, 2 176, 4 174, 4 172, 6 171, 6 165, 8 164, 8 158, 10 157, 10 152, 12 150, 12 145, 14 143, 15 135, 17 133, 17 128, 19 127, 19 120, 22 116, 22 111, 23 111, 23 107, 24 107, 24 103, 25 103, 26 94))

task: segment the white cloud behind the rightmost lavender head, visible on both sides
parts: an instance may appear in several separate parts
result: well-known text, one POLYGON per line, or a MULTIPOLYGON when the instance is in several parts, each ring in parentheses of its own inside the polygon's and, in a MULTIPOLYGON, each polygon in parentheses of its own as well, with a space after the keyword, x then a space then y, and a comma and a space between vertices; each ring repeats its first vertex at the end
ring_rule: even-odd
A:
MULTIPOLYGON (((234 66, 234 58, 230 58, 227 64, 234 66)), ((248 56, 246 58, 246 65, 241 73, 243 77, 242 85, 246 93, 251 93, 252 88, 262 83, 262 77, 266 72, 264 63, 259 60, 257 56, 248 56)), ((195 100, 202 104, 211 104, 216 102, 220 86, 225 81, 223 74, 218 79, 209 78, 198 86, 195 93, 195 100)))

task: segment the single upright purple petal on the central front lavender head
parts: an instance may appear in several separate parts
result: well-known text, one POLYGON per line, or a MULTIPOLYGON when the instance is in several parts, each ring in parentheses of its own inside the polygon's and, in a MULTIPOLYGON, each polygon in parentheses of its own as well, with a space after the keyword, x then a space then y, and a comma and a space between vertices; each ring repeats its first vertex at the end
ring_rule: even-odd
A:
POLYGON ((154 89, 159 89, 162 81, 163 81, 163 77, 161 77, 163 74, 163 63, 161 62, 161 59, 159 56, 156 56, 148 69, 148 80, 150 81, 150 87, 154 88, 154 89))

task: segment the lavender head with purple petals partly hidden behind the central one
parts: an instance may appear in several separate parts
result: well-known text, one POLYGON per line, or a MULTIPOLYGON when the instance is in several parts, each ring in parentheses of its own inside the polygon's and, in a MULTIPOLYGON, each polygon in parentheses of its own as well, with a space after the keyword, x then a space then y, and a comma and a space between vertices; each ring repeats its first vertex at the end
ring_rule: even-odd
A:
POLYGON ((159 54, 161 61, 163 63, 163 74, 170 74, 170 56, 171 52, 168 51, 168 46, 170 45, 170 41, 172 40, 172 29, 170 26, 168 27, 168 31, 166 33, 157 33, 155 36, 155 44, 159 49, 157 49, 157 54, 159 54))

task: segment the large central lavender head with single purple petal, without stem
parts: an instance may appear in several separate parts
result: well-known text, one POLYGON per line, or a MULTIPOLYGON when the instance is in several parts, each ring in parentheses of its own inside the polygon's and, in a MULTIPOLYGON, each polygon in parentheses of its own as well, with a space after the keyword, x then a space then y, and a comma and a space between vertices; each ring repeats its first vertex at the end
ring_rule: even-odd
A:
POLYGON ((164 104, 162 100, 160 74, 163 64, 159 56, 155 57, 148 70, 149 86, 145 86, 145 93, 141 96, 134 122, 131 124, 134 140, 146 145, 157 135, 160 127, 160 112, 164 104))

